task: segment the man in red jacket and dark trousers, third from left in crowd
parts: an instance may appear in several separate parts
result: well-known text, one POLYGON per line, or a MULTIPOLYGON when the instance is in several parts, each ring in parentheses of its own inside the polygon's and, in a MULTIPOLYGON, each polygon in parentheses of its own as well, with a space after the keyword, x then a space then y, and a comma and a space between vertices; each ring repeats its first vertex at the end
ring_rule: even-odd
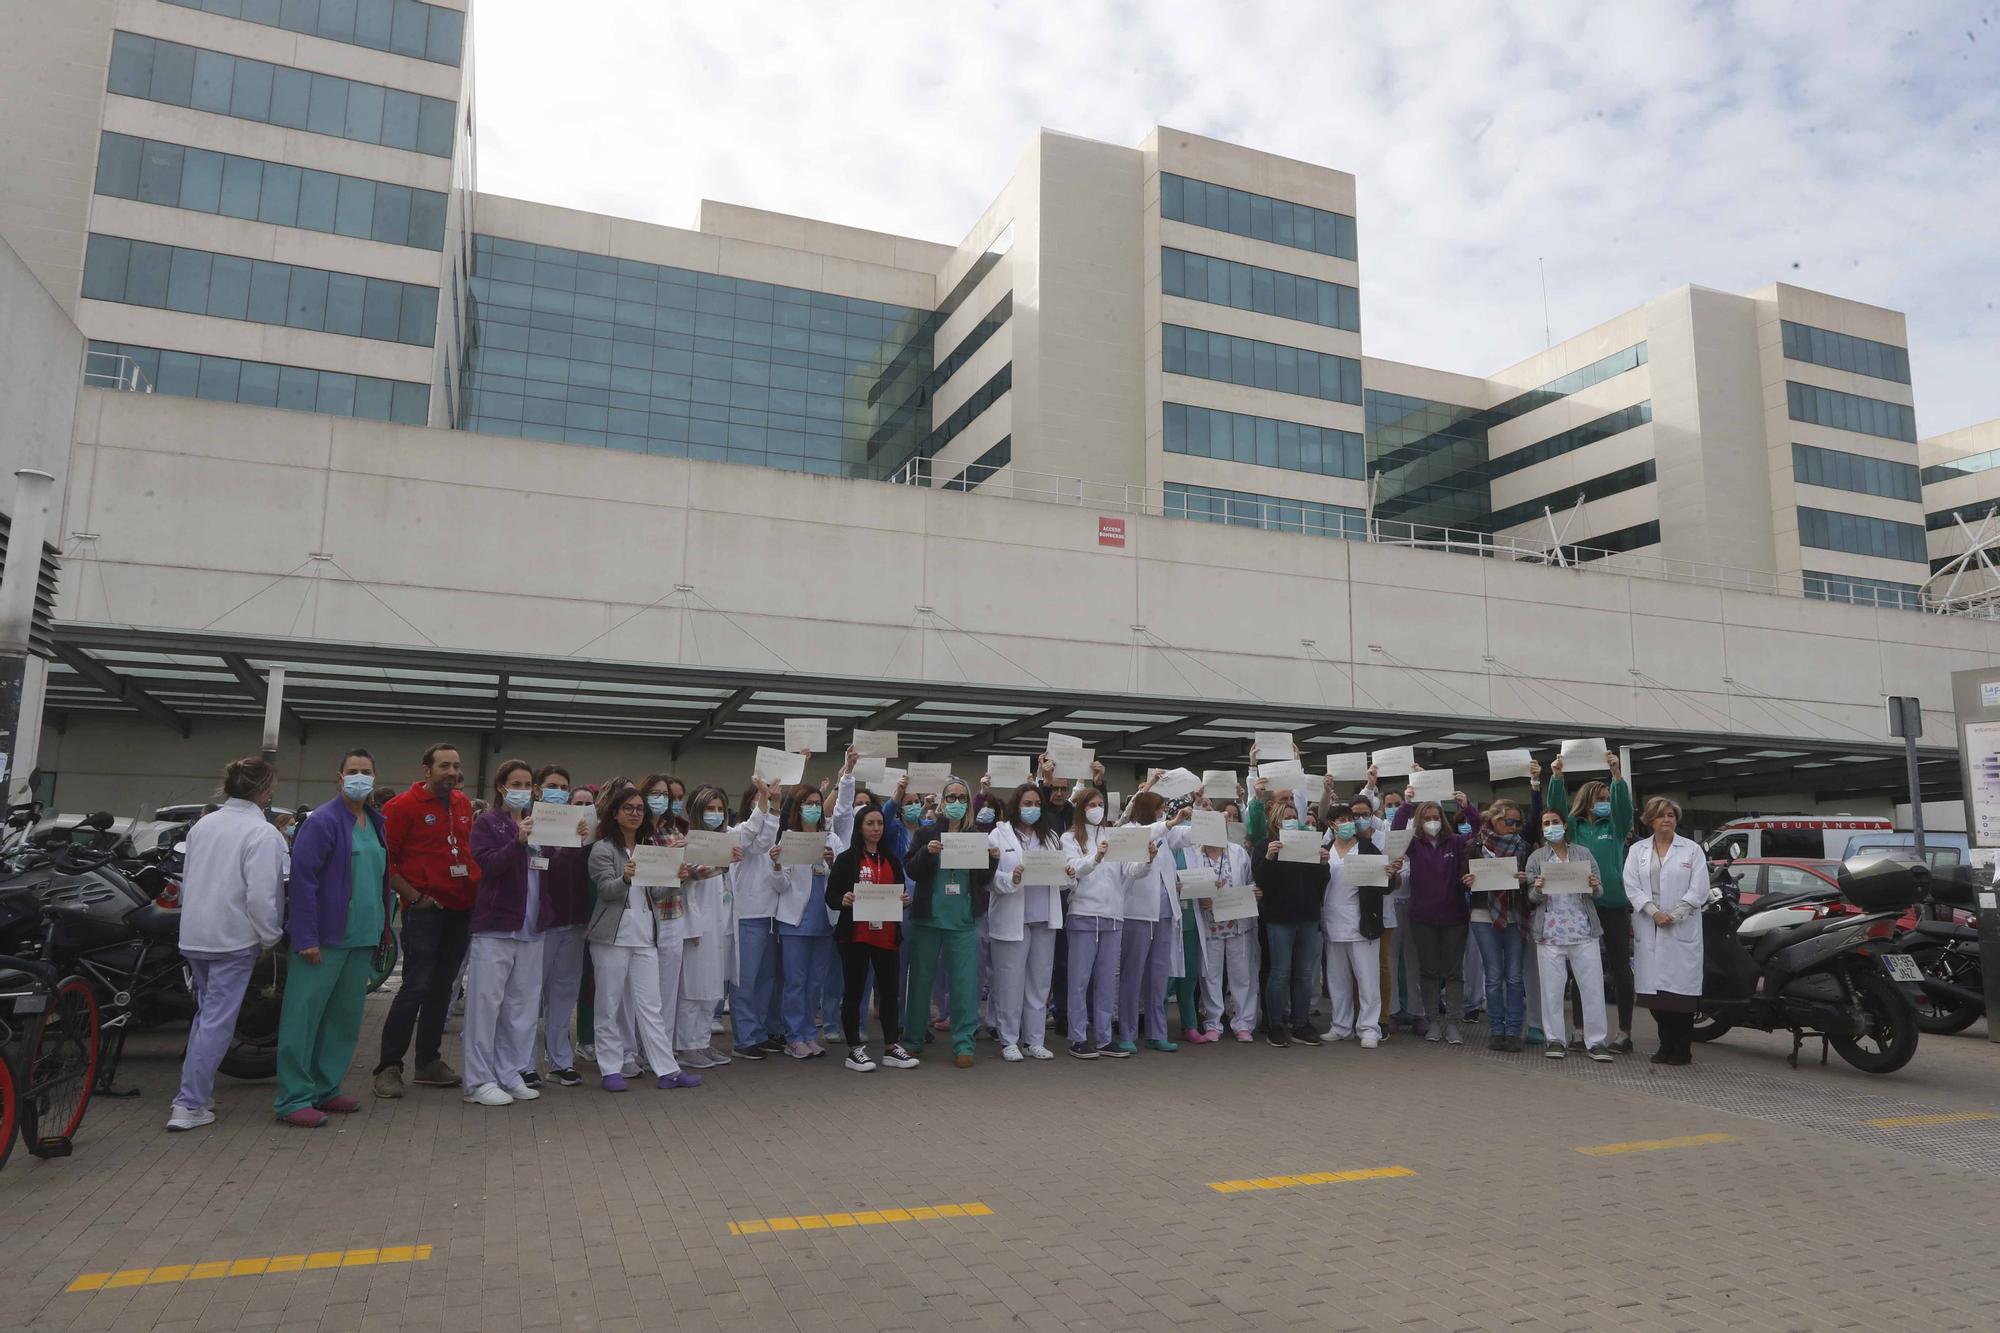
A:
POLYGON ((402 1097, 402 1061, 416 1037, 414 1083, 458 1087, 444 1063, 444 1019, 466 961, 480 867, 472 859, 472 801, 458 747, 424 751, 424 777, 388 803, 388 883, 402 899, 402 987, 382 1021, 376 1097, 402 1097))

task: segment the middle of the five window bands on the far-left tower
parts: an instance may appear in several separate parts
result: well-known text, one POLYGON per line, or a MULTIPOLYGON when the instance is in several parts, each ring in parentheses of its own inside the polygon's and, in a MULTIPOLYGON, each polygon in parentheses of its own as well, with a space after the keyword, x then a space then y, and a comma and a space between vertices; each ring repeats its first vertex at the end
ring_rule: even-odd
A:
POLYGON ((110 130, 98 140, 96 192, 392 246, 444 248, 446 198, 440 190, 336 176, 110 130))

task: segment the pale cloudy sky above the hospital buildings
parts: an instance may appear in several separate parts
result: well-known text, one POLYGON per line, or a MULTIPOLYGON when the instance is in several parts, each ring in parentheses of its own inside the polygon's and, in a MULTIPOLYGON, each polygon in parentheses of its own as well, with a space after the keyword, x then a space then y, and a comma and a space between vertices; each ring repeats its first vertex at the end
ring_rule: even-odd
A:
POLYGON ((1368 352, 1482 374, 1684 282, 1908 312, 2000 416, 2000 2, 482 0, 480 188, 956 242, 1038 126, 1354 172, 1368 352), (560 20, 556 14, 560 12, 560 20))

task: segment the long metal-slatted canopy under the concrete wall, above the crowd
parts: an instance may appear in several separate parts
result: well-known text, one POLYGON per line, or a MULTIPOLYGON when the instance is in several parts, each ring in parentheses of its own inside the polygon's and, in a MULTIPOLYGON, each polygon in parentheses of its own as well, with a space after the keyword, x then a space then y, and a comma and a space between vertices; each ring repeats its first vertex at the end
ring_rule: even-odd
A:
MULTIPOLYGON (((894 729, 906 759, 1034 755, 1048 731, 1082 737, 1108 767, 1236 767, 1252 731, 1290 731, 1308 757, 1418 747, 1426 767, 1486 773, 1486 751, 1548 753, 1558 727, 1532 721, 1064 693, 944 681, 858 681, 772 671, 612 662, 56 622, 46 713, 128 715, 186 737, 202 719, 262 719, 262 683, 286 669, 286 721, 310 735, 416 727, 440 737, 592 735, 690 745, 780 745, 786 717, 824 717, 838 737, 894 729)), ((1592 729, 1596 731, 1596 729, 1592 729)), ((1816 801, 1904 795, 1902 747, 1610 727, 1640 787, 1694 797, 1810 793, 1816 801)), ((470 737, 468 737, 470 739, 470 737)), ((1918 751, 1926 801, 1960 795, 1958 755, 1918 751)))

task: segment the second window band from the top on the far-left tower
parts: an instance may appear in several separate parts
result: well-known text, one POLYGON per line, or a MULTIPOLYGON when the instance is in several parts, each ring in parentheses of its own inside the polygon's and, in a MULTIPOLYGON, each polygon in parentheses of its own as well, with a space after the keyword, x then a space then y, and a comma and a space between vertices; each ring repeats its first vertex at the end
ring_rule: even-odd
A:
POLYGON ((444 98, 196 50, 136 32, 112 34, 106 86, 128 98, 192 106, 434 158, 452 156, 458 118, 458 104, 444 98))

